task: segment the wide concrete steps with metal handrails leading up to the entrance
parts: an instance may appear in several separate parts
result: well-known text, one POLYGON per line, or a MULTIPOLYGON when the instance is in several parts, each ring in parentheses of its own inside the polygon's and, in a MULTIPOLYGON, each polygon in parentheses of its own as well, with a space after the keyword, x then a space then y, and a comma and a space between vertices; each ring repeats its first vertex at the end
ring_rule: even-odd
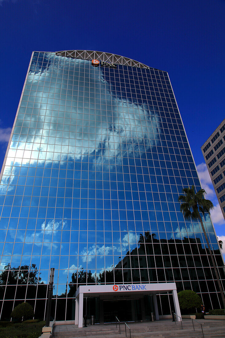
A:
MULTIPOLYGON (((225 337, 225 321, 219 320, 198 320, 202 324, 204 337, 222 338, 225 337)), ((131 329, 131 338, 200 338, 203 337, 201 325, 194 322, 193 330, 192 320, 184 319, 182 321, 183 330, 180 322, 171 320, 160 320, 155 322, 135 322, 127 323, 131 329)), ((53 338, 125 338, 125 324, 96 324, 88 325, 87 328, 78 328, 77 325, 56 325, 53 331, 53 338)), ((127 328, 127 337, 129 338, 129 329, 127 328)))

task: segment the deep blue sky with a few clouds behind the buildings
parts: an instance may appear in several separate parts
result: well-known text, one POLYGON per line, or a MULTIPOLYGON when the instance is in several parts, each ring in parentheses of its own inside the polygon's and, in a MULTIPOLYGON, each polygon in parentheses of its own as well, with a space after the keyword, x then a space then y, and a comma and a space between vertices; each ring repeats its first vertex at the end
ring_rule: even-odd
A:
MULTIPOLYGON (((224 0, 0 0, 0 22, 0 166, 32 51, 71 49, 168 71, 196 165, 204 162, 200 147, 225 118, 224 0)), ((199 171, 217 204, 205 167, 199 171)), ((216 211, 217 233, 225 235, 216 211)))

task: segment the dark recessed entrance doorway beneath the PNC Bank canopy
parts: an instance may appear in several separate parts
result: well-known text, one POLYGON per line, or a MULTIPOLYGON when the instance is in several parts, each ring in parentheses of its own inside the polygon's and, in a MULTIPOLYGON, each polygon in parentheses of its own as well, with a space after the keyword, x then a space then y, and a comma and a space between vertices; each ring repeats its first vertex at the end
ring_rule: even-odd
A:
POLYGON ((142 320, 140 299, 103 300, 104 323, 142 320))

